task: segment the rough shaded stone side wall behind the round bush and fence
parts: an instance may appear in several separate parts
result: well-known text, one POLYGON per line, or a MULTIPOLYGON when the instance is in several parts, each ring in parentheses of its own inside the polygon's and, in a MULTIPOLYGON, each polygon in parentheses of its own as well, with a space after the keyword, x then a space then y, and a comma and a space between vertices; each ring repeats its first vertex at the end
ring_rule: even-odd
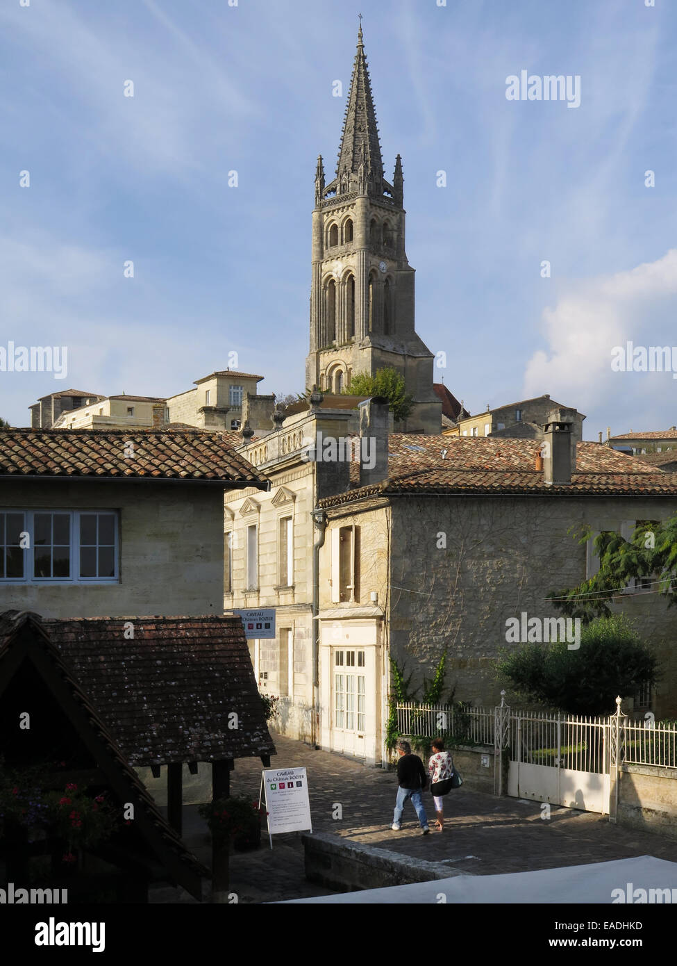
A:
MULTIPOLYGON (((420 696, 423 677, 430 680, 447 647, 446 684, 455 699, 498 703, 495 660, 502 648, 518 646, 506 643, 506 619, 522 611, 559 616, 546 596, 586 577, 586 548, 569 528, 618 529, 673 511, 667 497, 394 498, 390 648, 413 675, 412 696, 420 696)), ((663 664, 652 710, 677 717, 677 612, 652 593, 629 595, 622 611, 637 618, 663 664)))

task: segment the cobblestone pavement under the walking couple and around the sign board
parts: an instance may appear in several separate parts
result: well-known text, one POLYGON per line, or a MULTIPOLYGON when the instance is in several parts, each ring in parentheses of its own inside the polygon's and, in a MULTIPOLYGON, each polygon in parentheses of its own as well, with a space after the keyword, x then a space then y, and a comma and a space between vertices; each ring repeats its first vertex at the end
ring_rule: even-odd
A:
MULTIPOLYGON (((365 768, 353 759, 318 752, 273 735, 276 768, 305 766, 308 771, 314 832, 330 832, 412 858, 447 863, 450 867, 492 875, 539 868, 578 866, 639 855, 677 862, 677 841, 611 825, 592 812, 552 808, 541 818, 540 803, 494 798, 465 787, 445 798, 445 831, 422 836, 415 812, 407 804, 400 832, 390 829, 397 780, 394 772, 365 768), (333 819, 339 804, 341 819, 333 819)), ((262 765, 259 759, 238 760, 231 774, 231 792, 258 798, 262 765)), ((432 821, 433 799, 424 793, 432 821)), ((203 861, 209 859, 208 839, 194 809, 185 809, 186 843, 203 861)), ((303 848, 298 833, 273 837, 256 852, 235 854, 231 888, 240 901, 266 902, 282 898, 327 895, 305 881, 303 848)))

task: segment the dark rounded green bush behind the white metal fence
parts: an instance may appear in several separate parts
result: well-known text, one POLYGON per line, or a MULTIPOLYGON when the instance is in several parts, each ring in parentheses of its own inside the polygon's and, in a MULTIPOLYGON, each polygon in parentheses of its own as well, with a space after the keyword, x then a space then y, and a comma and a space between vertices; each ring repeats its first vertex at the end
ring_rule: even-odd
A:
POLYGON ((565 641, 504 651, 498 673, 529 700, 576 715, 610 715, 617 695, 634 696, 659 679, 659 662, 624 614, 597 617, 580 633, 580 647, 565 641))

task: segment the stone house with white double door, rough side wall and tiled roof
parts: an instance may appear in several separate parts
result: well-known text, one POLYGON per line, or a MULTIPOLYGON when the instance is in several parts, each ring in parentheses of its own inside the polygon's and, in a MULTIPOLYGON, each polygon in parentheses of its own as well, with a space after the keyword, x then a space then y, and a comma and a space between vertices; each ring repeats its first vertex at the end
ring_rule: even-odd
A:
MULTIPOLYGON (((569 440, 561 447, 555 440, 553 449, 553 464, 566 465, 549 467, 540 456, 544 440, 396 434, 388 438, 381 483, 355 487, 353 473, 353 489, 319 501, 326 515, 319 574, 324 748, 381 761, 390 657, 411 675, 410 694, 420 699, 446 651, 447 696, 494 704, 504 686, 494 668, 509 646, 508 618, 561 616, 548 594, 595 572, 592 550, 578 545, 571 528, 588 524, 629 537, 636 522, 674 513, 677 476, 597 443, 579 442, 572 465, 569 440), (568 482, 553 482, 567 471, 568 482)), ((674 614, 641 582, 619 593, 615 607, 637 618, 663 664, 655 693, 637 700, 657 717, 674 717, 674 614)))

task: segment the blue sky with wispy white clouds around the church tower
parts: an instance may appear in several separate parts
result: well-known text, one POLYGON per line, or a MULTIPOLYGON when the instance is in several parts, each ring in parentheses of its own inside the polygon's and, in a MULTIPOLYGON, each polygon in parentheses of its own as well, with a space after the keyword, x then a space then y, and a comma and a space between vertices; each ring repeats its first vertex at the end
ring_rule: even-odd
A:
POLYGON ((674 0, 5 0, 0 345, 66 345, 69 372, 0 373, 0 414, 171 395, 233 351, 260 391, 303 388, 358 12, 436 379, 470 412, 550 392, 587 439, 677 423, 670 373, 610 368, 677 344, 674 0), (506 99, 522 70, 578 74, 580 106, 506 99))

